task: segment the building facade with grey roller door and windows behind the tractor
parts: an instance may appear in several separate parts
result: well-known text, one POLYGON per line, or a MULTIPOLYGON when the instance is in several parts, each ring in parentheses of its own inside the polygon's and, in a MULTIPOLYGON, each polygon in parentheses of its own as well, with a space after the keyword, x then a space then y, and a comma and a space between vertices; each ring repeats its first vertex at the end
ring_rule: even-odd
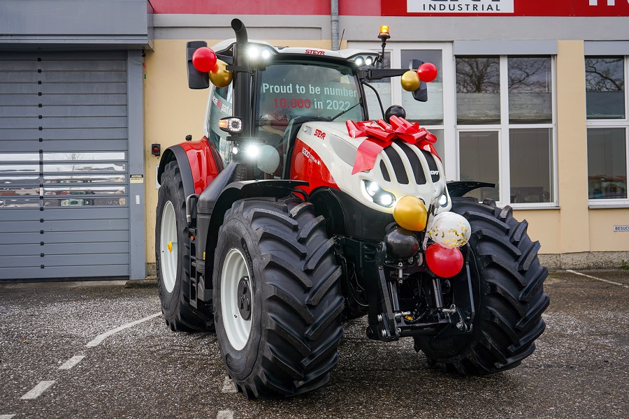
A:
MULTIPOLYGON (((13 8, 16 15, 27 13, 15 11, 17 3, 43 7, 40 3, 49 2, 0 1, 0 7, 13 8)), ((95 20, 79 24, 75 36, 51 28, 46 29, 45 38, 41 26, 1 17, 6 13, 0 15, 1 27, 12 25, 12 31, 0 33, 15 34, 0 36, 0 64, 11 74, 0 76, 0 161, 8 162, 5 172, 9 170, 6 177, 0 172, 5 179, 0 186, 5 195, 5 204, 0 204, 0 223, 5 226, 0 229, 0 247, 13 251, 0 253, 6 255, 0 256, 4 260, 0 260, 0 279, 27 278, 31 272, 48 277, 99 274, 94 270, 85 274, 82 272, 86 270, 73 271, 71 263, 77 259, 73 254, 91 255, 85 259, 86 265, 101 263, 101 274, 106 276, 115 271, 115 275, 136 278, 154 272, 153 220, 159 158, 152 156, 150 146, 159 143, 163 150, 182 142, 186 135, 203 136, 207 92, 187 89, 185 44, 204 40, 211 46, 233 38, 233 17, 243 20, 250 38, 273 45, 326 49, 340 43, 340 47, 379 50, 378 28, 388 25, 391 40, 385 50, 386 65, 409 68, 413 59, 421 59, 436 64, 440 75, 428 84, 426 103, 412 101, 396 79, 375 86, 385 106, 403 105, 407 119, 418 121, 437 135, 437 149, 448 179, 496 184, 496 188, 476 191, 475 196, 511 205, 516 218, 527 219, 530 236, 542 245, 542 262, 551 268, 619 267, 629 261, 629 1, 55 3, 73 4, 75 8, 85 5, 86 13, 94 12, 95 20), (102 8, 90 9, 96 8, 95 4, 102 8), (123 16, 123 7, 147 11, 143 16, 123 16), (101 34, 96 33, 98 24, 104 28, 99 29, 101 34), (120 34, 131 36, 125 31, 141 39, 133 45, 117 41, 120 34), (109 42, 105 43, 101 38, 108 36, 109 42), (42 96, 27 98, 39 90, 29 90, 33 87, 30 84, 24 86, 33 81, 42 81, 45 86, 47 80, 27 78, 22 82, 17 73, 21 72, 20 77, 27 73, 29 77, 47 75, 48 68, 34 64, 45 59, 33 61, 41 58, 37 55, 40 51, 57 54, 52 61, 65 60, 73 67, 71 71, 62 68, 61 73, 80 73, 78 69, 87 66, 85 62, 96 58, 98 65, 104 66, 85 67, 94 72, 90 73, 90 86, 98 96, 97 100, 74 98, 80 102, 75 105, 83 105, 82 110, 86 110, 87 103, 94 106, 85 119, 78 118, 75 108, 71 108, 75 105, 69 104, 55 108, 56 112, 66 112, 64 115, 31 112, 31 99, 45 98, 49 93, 42 91, 42 96), (116 60, 121 62, 112 64, 116 60), (26 63, 25 67, 16 69, 18 61, 26 63), (121 80, 108 79, 114 74, 121 80), (99 77, 106 79, 101 80, 102 86, 96 80, 99 77), (126 87, 120 84, 125 77, 126 87), (23 106, 13 101, 17 96, 10 96, 20 94, 26 95, 19 99, 24 101, 23 106), (142 103, 138 104, 138 97, 143 98, 142 103), (83 103, 84 99, 88 102, 83 103), (111 103, 99 102, 105 100, 111 103), (122 108, 118 110, 122 113, 113 112, 116 106, 124 106, 124 101, 126 114, 122 108), (110 108, 103 108, 106 106, 110 108), (100 110, 111 112, 100 115, 100 110), (68 118, 65 115, 70 119, 62 119, 68 118), (73 117, 76 121, 71 120, 73 117), (18 122, 21 125, 17 126, 18 122), (57 125, 46 126, 45 122, 57 125), (80 124, 68 126, 74 122, 80 124), (45 137, 46 131, 51 133, 50 138, 45 137), (52 142, 53 137, 56 142, 52 142), (73 139, 81 139, 81 146, 76 148, 78 142, 69 142, 73 139), (41 146, 47 143, 54 146, 50 151, 41 146), (71 156, 68 152, 77 154, 71 156), (64 166, 66 160, 75 160, 73 166, 64 166), (90 177, 85 175, 87 170, 90 177), (94 187, 97 182, 102 189, 94 187), (27 190, 30 192, 24 192, 27 190), (41 214, 50 214, 52 221, 55 217, 62 219, 52 223, 44 216, 41 221, 41 214), (85 220, 91 221, 79 222, 85 220), (77 231, 59 230, 68 225, 77 231), (93 234, 78 231, 82 225, 88 229, 85 231, 92 228, 93 234), (24 243, 20 243, 23 246, 19 251, 24 254, 17 255, 14 253, 18 250, 13 250, 17 242, 11 240, 20 232, 29 236, 20 239, 24 243), (92 242, 80 242, 79 233, 92 237, 92 242), (38 239, 50 236, 55 249, 66 249, 63 254, 68 257, 55 259, 57 270, 45 274, 46 267, 40 265, 46 263, 33 264, 33 260, 48 260, 52 253, 37 250, 48 249, 48 242, 44 240, 41 245, 38 239), (72 253, 78 247, 84 253, 72 253), (109 265, 120 265, 120 269, 106 270, 104 267, 109 265)), ((68 13, 60 10, 56 10, 57 15, 68 13)), ((54 11, 45 13, 55 15, 54 11)), ((65 24, 76 26, 76 21, 65 24)), ((57 24, 64 26, 62 20, 57 24)), ((66 85, 55 79, 54 83, 69 96, 83 94, 71 89, 79 88, 81 80, 66 85)), ((53 95, 50 91, 50 98, 53 95)), ((378 117, 378 113, 373 110, 370 115, 378 117)))

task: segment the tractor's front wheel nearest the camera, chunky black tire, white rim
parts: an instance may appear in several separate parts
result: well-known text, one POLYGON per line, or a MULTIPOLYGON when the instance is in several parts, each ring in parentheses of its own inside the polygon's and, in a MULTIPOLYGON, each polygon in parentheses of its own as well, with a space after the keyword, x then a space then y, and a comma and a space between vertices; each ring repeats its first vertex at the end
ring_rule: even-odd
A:
POLYGON ((215 325, 229 376, 247 398, 328 382, 342 336, 340 267, 313 206, 236 201, 215 253, 215 325))

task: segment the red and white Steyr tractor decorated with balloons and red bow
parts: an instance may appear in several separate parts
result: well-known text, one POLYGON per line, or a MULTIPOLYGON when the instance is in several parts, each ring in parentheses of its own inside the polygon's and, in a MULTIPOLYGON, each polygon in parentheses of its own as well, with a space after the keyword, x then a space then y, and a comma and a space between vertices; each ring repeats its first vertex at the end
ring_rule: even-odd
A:
POLYGON ((342 321, 364 315, 370 339, 412 337, 446 372, 500 372, 533 353, 549 297, 526 221, 462 197, 487 184, 447 184, 434 135, 401 107, 368 115, 370 80, 402 76, 424 101, 434 66, 273 47, 232 27, 213 50, 188 43, 189 87, 210 87, 205 136, 159 164, 170 328, 215 330, 247 397, 324 385, 342 321))

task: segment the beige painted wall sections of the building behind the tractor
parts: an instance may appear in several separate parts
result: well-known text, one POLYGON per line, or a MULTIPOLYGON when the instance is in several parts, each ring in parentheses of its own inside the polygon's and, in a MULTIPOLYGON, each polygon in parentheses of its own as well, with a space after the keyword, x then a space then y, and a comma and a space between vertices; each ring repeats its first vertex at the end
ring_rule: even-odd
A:
MULTIPOLYGON (((188 40, 156 40, 146 54, 145 166, 147 262, 154 263, 154 220, 157 205, 155 166, 150 144, 164 150, 203 135, 208 91, 187 87, 185 44, 188 40)), ((212 45, 217 41, 208 41, 212 45)), ((329 48, 330 41, 270 41, 274 45, 329 48)), ((344 41, 346 45, 346 42, 344 41)), ((345 47, 343 45, 343 47, 345 47)), ((629 224, 629 209, 588 210, 587 137, 584 42, 559 41, 557 57, 558 198, 561 210, 518 210, 528 233, 542 244, 541 253, 566 254, 629 251, 629 233, 614 233, 614 225, 629 224)))

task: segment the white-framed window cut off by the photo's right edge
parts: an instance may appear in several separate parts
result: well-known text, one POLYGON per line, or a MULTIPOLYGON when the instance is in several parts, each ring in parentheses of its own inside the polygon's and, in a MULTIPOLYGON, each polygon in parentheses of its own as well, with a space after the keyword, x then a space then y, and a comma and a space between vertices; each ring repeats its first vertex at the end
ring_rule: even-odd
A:
POLYGON ((593 206, 629 203, 628 64, 626 56, 585 57, 588 200, 593 206))

